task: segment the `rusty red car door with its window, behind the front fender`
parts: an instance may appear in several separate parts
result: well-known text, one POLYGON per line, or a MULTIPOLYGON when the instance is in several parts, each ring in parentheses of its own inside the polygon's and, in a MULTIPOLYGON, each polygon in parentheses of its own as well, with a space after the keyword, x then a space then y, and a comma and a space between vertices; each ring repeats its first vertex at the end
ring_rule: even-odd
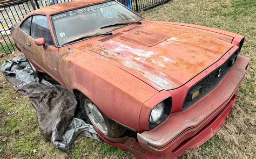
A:
POLYGON ((55 78, 58 82, 62 83, 62 80, 59 76, 59 54, 58 48, 55 47, 55 44, 52 39, 50 32, 48 18, 45 15, 35 15, 32 18, 31 23, 31 50, 33 56, 36 56, 35 62, 37 62, 42 69, 55 78), (35 39, 44 38, 46 42, 46 48, 43 46, 37 46, 35 39))

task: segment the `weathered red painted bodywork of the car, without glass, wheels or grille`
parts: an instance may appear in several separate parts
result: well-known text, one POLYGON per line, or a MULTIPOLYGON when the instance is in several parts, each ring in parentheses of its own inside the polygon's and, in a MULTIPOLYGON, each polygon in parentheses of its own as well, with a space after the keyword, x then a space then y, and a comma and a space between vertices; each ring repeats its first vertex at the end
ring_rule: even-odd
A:
MULTIPOLYGON (((33 11, 24 19, 46 15, 51 24, 52 13, 93 3, 96 2, 56 4, 33 11)), ((77 91, 83 93, 108 118, 139 133, 138 143, 130 141, 131 138, 112 140, 102 135, 104 140, 132 150, 140 157, 153 157, 150 151, 180 155, 186 148, 209 139, 214 134, 209 132, 210 128, 218 129, 223 124, 249 60, 238 57, 215 89, 181 111, 188 89, 221 66, 244 37, 204 26, 141 21, 142 25, 120 27, 111 36, 69 46, 57 47, 53 38, 55 46, 46 45, 46 49, 37 46, 37 41, 19 28, 22 22, 12 31, 12 36, 38 71, 47 73, 74 95, 77 91), (26 45, 28 42, 31 46, 26 45), (152 108, 167 97, 172 97, 169 117, 150 130, 152 108), (184 132, 193 126, 193 131, 184 132)), ((51 25, 50 30, 55 37, 51 25)))

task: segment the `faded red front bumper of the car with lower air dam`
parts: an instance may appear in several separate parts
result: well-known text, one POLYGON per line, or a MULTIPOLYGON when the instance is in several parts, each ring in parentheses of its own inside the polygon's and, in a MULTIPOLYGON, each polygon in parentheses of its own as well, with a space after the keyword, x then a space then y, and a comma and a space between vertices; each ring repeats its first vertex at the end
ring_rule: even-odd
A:
POLYGON ((172 113, 150 131, 138 134, 140 146, 154 154, 178 156, 210 139, 231 112, 249 61, 238 56, 230 71, 207 95, 185 111, 172 113))

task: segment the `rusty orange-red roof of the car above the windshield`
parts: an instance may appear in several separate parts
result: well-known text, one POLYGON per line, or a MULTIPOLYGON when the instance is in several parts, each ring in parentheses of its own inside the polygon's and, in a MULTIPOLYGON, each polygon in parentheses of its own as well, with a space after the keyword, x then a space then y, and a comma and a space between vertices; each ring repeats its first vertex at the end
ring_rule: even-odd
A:
POLYGON ((71 1, 71 2, 59 3, 59 4, 46 6, 44 8, 35 10, 31 12, 31 14, 52 15, 54 13, 70 10, 73 8, 79 8, 85 5, 100 3, 100 2, 105 2, 105 0, 86 0, 86 1, 71 1))

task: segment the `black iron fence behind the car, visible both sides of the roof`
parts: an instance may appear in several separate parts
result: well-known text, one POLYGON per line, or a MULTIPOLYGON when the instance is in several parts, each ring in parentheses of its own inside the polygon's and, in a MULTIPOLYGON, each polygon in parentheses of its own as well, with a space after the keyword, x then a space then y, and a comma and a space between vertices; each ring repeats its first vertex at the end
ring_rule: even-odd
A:
MULTIPOLYGON (((10 36, 11 26, 21 21, 28 13, 45 6, 69 2, 72 0, 1 0, 0 1, 0 53, 15 51, 10 36)), ((86 1, 86 0, 85 0, 86 1)), ((170 0, 117 0, 133 11, 154 8, 170 0)))

